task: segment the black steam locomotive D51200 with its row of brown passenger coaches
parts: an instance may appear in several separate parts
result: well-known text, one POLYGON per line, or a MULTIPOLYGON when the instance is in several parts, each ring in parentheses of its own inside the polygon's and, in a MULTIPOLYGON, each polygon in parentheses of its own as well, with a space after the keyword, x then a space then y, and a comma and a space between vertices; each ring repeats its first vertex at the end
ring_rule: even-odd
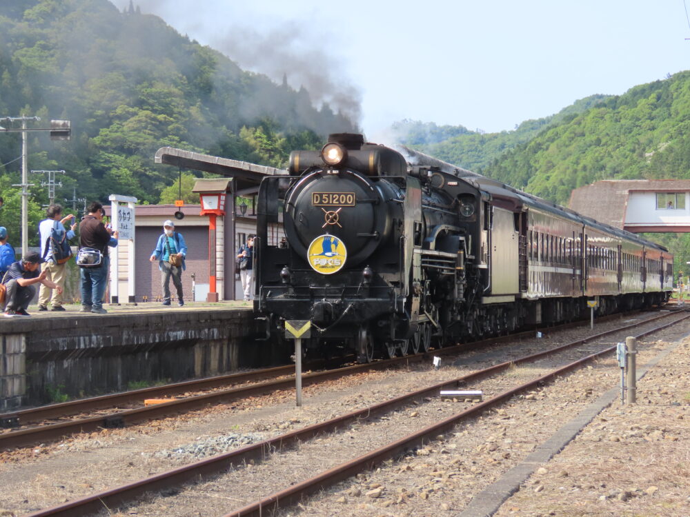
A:
MULTIPOLYGON (((404 150, 409 152, 409 150, 404 150)), ((527 324, 667 301, 668 250, 417 154, 332 134, 290 154, 257 201, 255 312, 280 340, 311 320, 308 349, 427 351, 527 324), (421 156, 421 158, 420 158, 421 156), (287 245, 278 245, 282 221, 287 245)))

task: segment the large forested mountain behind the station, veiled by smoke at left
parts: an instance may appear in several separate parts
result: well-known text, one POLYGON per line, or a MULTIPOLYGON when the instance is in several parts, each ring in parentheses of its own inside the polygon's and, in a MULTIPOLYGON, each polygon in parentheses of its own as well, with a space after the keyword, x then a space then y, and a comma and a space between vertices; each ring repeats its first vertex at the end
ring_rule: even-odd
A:
MULTIPOLYGON (((0 117, 20 114, 41 117, 30 127, 72 123, 71 141, 29 138, 30 169, 67 172, 58 201, 74 187, 87 199, 118 193, 157 203, 177 179, 153 163, 164 145, 282 166, 294 148, 356 130, 328 105, 314 108, 306 90, 245 72, 158 17, 107 0, 0 2, 0 117)), ((0 141, 0 224, 9 228, 21 137, 0 133, 0 141)), ((38 176, 30 183, 33 223, 48 200, 38 176)))

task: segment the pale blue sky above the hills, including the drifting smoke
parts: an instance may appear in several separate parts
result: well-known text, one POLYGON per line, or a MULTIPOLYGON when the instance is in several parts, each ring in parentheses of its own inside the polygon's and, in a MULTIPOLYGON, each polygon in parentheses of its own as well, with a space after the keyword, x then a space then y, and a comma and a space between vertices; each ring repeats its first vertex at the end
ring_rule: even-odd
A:
POLYGON ((351 114, 369 141, 402 119, 509 131, 689 70, 685 3, 134 0, 245 70, 278 83, 286 74, 351 114))

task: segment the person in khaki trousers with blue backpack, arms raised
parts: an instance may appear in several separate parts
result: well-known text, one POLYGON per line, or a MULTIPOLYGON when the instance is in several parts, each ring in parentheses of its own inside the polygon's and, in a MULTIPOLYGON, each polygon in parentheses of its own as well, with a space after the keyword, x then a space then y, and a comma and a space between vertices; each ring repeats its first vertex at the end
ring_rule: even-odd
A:
POLYGON ((46 210, 46 219, 43 219, 43 221, 39 223, 41 257, 46 261, 41 265, 41 270, 46 272, 46 278, 48 278, 48 280, 62 287, 59 292, 53 290, 51 297, 48 292, 48 287, 41 284, 41 288, 39 289, 39 311, 48 310, 48 302, 52 305, 51 310, 53 311, 65 310, 65 307, 62 306, 62 290, 65 287, 67 263, 63 262, 59 264, 57 260, 55 260, 55 256, 53 255, 53 243, 51 242, 50 235, 53 230, 56 230, 61 235, 66 234, 66 239, 68 241, 74 239, 75 228, 77 227, 75 219, 75 216, 72 214, 63 217, 61 205, 50 205, 46 210), (70 221, 72 222, 70 230, 65 230, 64 225, 70 221))

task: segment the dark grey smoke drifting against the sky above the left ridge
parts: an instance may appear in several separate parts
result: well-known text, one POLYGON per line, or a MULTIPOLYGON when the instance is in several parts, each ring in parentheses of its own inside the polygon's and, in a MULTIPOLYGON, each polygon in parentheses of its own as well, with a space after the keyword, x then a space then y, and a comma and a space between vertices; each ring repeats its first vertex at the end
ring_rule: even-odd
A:
MULTIPOLYGON (((130 4, 111 1, 120 9, 130 4)), ((353 125, 361 121, 362 93, 346 77, 342 61, 327 50, 334 37, 321 29, 319 17, 312 23, 262 19, 250 9, 213 0, 134 0, 133 6, 226 54, 244 70, 275 83, 286 79, 294 90, 304 88, 317 108, 327 103, 353 125)))

